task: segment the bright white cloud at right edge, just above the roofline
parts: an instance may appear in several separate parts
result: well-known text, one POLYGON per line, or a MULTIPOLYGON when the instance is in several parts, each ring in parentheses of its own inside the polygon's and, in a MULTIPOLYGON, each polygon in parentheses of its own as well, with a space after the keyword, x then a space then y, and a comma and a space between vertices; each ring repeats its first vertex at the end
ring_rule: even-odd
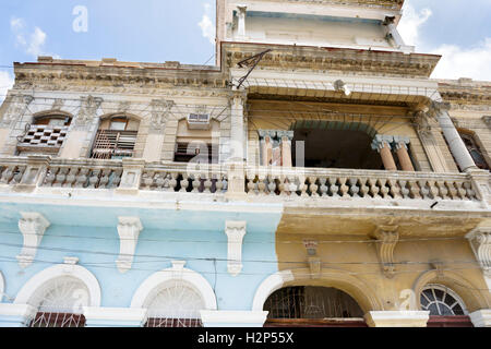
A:
POLYGON ((442 55, 442 59, 431 77, 491 80, 491 37, 469 49, 442 45, 432 50, 432 53, 442 55))

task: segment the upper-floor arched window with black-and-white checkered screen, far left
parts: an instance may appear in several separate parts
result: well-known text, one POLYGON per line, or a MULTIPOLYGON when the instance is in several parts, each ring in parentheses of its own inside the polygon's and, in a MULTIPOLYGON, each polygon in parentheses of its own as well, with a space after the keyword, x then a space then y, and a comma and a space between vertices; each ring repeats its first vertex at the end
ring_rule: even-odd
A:
POLYGON ((19 155, 58 154, 71 122, 71 117, 59 113, 35 117, 17 137, 19 155))

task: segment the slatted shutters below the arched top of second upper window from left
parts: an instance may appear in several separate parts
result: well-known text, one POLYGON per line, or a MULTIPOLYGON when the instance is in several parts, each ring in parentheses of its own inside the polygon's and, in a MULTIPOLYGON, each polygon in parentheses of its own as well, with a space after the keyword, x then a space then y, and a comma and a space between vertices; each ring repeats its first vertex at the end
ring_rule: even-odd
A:
POLYGON ((136 142, 137 131, 97 131, 92 158, 112 159, 132 157, 136 142))

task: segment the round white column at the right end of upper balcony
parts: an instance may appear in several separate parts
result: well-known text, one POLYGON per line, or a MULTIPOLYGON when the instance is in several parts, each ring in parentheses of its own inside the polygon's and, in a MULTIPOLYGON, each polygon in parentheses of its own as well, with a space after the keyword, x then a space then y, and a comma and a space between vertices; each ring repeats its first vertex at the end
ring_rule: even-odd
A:
POLYGON ((445 136, 448 147, 460 169, 466 171, 468 169, 477 168, 469 151, 467 151, 467 147, 460 137, 460 134, 458 134, 458 131, 455 129, 455 125, 448 116, 450 106, 443 103, 434 103, 433 108, 435 109, 443 135, 445 136))

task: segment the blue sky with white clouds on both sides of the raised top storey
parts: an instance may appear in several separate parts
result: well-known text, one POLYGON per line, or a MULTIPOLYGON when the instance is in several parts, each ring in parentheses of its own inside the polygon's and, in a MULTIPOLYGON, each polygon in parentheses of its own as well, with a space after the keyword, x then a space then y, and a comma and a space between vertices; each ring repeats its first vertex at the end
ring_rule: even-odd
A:
MULTIPOLYGON (((215 0, 0 0, 0 99, 9 65, 38 55, 213 63, 214 23, 215 0), (77 5, 86 32, 73 29, 77 5)), ((407 0, 400 32, 418 52, 444 55, 433 77, 491 80, 491 0, 407 0)))

